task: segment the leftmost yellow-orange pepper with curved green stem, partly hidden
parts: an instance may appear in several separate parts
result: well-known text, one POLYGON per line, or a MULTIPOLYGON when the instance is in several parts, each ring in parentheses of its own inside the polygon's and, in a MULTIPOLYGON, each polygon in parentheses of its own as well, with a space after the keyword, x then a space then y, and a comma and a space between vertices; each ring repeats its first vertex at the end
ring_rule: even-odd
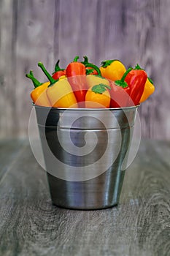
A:
POLYGON ((35 105, 50 107, 50 101, 47 98, 46 90, 50 85, 50 82, 40 83, 36 78, 34 78, 33 71, 31 70, 29 74, 26 74, 27 78, 30 78, 34 83, 35 89, 31 91, 31 99, 35 105))

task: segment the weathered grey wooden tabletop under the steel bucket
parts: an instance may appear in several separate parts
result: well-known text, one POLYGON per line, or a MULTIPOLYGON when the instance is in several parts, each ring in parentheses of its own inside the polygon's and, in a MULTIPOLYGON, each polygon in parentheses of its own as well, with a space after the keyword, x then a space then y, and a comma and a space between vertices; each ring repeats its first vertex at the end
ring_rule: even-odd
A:
POLYGON ((170 142, 142 141, 120 205, 53 206, 26 140, 0 141, 0 255, 170 255, 170 142))

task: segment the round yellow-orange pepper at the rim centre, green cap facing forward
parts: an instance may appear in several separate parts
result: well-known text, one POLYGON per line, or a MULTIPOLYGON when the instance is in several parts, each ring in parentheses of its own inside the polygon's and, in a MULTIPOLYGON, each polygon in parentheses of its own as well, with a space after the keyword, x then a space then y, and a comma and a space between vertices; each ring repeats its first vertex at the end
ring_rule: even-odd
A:
POLYGON ((109 108, 110 87, 104 83, 91 86, 85 96, 85 108, 109 108))

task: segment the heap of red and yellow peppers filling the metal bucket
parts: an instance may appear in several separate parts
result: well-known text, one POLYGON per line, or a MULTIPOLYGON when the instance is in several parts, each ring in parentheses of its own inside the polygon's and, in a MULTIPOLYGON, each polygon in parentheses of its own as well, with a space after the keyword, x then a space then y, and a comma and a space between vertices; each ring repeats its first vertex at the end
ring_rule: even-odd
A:
POLYGON ((26 74, 34 83, 31 99, 35 105, 50 108, 125 108, 139 105, 155 91, 147 72, 139 64, 127 70, 117 59, 101 62, 97 67, 79 56, 65 69, 55 64, 51 75, 42 62, 38 66, 47 77, 40 83, 31 70, 26 74))

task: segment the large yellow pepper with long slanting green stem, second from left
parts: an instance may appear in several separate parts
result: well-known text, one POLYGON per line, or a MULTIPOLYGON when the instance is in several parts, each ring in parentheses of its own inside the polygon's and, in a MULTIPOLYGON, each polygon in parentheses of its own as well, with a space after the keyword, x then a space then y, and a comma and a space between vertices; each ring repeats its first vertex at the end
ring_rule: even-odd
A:
POLYGON ((39 62, 38 66, 50 80, 46 93, 53 108, 77 108, 77 100, 67 79, 54 80, 47 72, 44 65, 39 62))

